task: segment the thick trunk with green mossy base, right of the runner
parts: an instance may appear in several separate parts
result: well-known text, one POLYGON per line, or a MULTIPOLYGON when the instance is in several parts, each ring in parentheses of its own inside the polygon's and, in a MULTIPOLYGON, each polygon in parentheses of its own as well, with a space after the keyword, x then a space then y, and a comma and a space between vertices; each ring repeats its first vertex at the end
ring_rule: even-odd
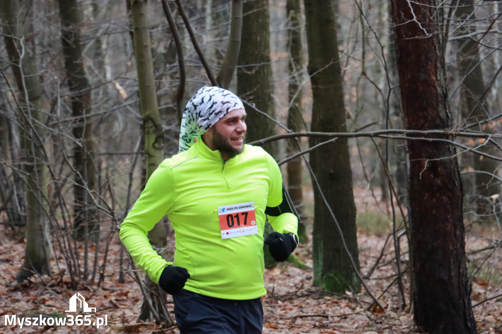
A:
MULTIPOLYGON (((311 131, 346 132, 335 4, 331 0, 305 0, 304 4, 309 52, 308 72, 313 95, 311 131)), ((321 141, 323 139, 311 138, 309 144, 312 147, 321 141)), ((314 284, 337 292, 350 288, 359 291, 360 282, 355 272, 359 270, 356 211, 347 139, 338 138, 321 149, 312 151, 310 163, 320 184, 320 190, 343 234, 340 235, 313 179, 314 284)))

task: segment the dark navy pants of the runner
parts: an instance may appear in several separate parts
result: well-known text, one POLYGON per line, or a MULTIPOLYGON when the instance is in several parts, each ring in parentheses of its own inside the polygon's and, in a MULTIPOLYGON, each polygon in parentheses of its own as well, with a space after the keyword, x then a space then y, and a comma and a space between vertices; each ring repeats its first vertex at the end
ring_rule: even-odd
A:
POLYGON ((180 334, 260 334, 262 299, 233 300, 182 289, 173 295, 180 334))

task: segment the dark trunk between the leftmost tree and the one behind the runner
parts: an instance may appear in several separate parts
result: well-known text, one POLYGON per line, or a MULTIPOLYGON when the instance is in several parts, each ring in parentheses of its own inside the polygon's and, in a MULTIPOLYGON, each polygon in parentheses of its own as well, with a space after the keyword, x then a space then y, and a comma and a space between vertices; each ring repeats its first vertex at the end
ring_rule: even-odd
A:
POLYGON ((84 59, 80 43, 80 27, 82 25, 80 12, 81 9, 78 8, 76 0, 59 0, 61 43, 70 90, 69 100, 74 122, 73 136, 77 141, 73 147, 74 232, 78 239, 97 242, 99 222, 92 198, 92 192, 97 190, 97 179, 94 167, 92 119, 88 116, 92 111, 91 90, 83 65, 84 59))

